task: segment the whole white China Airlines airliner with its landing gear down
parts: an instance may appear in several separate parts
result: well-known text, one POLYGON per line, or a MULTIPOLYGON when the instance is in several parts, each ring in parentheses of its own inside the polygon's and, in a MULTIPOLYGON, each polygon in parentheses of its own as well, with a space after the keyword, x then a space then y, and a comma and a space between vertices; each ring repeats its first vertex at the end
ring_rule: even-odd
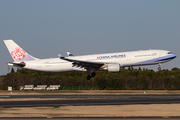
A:
POLYGON ((38 59, 29 55, 13 40, 4 40, 4 43, 14 60, 8 62, 10 66, 43 72, 90 71, 88 80, 95 77, 96 70, 119 72, 122 67, 154 64, 159 64, 160 70, 161 63, 176 58, 175 54, 167 50, 140 50, 83 56, 73 56, 67 52, 68 57, 38 59))

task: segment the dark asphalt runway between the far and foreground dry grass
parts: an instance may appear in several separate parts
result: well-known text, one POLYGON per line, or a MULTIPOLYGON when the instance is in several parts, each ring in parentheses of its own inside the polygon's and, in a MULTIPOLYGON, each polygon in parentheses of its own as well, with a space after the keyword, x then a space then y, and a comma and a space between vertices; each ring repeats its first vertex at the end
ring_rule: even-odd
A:
POLYGON ((180 95, 10 95, 0 98, 69 98, 67 100, 0 102, 0 107, 49 107, 49 106, 89 106, 89 105, 129 105, 129 104, 171 104, 180 103, 180 95), (71 100, 70 98, 83 98, 71 100), (92 99, 86 99, 92 98, 92 99))

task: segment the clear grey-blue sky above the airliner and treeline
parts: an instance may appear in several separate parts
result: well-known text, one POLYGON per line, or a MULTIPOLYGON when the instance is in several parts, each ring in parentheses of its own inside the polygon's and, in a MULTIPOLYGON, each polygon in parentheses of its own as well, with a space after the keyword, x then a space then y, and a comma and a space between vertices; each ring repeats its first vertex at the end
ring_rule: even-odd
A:
POLYGON ((177 57, 161 68, 180 68, 179 6, 180 0, 0 0, 0 75, 13 61, 6 39, 40 59, 163 49, 177 57))

